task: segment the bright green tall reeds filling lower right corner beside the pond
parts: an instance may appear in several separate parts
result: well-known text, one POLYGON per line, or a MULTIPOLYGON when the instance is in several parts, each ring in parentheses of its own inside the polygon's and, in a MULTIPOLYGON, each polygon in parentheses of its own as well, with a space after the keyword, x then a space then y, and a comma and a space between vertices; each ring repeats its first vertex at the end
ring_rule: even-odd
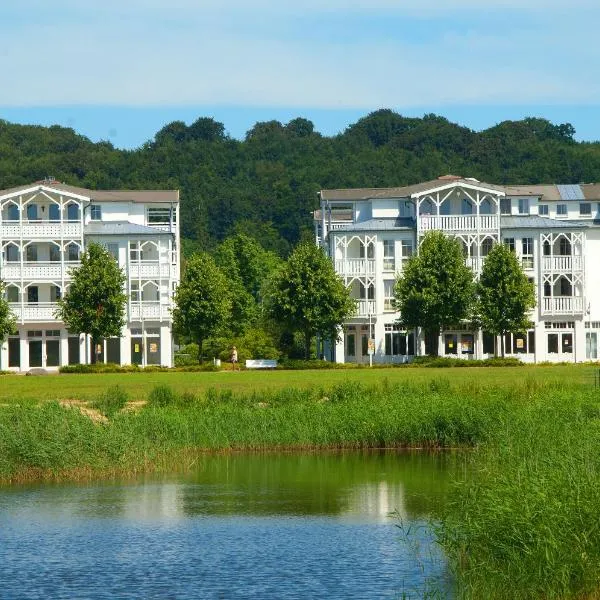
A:
POLYGON ((600 400, 521 403, 471 455, 438 528, 464 599, 600 597, 600 400))

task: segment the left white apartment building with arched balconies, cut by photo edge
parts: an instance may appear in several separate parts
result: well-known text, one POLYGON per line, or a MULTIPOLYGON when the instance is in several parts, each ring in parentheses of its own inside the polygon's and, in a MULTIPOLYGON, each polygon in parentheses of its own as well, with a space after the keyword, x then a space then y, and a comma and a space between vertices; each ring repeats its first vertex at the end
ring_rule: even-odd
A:
POLYGON ((171 366, 171 307, 179 282, 179 192, 88 190, 53 179, 0 191, 0 280, 17 331, 0 369, 90 362, 90 340, 55 318, 86 244, 104 245, 127 276, 127 323, 98 360, 171 366))

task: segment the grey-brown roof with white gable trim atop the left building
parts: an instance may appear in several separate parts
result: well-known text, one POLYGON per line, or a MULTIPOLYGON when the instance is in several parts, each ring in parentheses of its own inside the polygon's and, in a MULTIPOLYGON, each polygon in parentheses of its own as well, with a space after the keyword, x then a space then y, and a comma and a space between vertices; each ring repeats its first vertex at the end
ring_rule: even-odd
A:
POLYGON ((16 196, 20 193, 34 193, 40 190, 72 194, 92 202, 140 202, 144 204, 179 202, 179 190, 89 190, 54 180, 37 181, 0 190, 0 198, 16 196))

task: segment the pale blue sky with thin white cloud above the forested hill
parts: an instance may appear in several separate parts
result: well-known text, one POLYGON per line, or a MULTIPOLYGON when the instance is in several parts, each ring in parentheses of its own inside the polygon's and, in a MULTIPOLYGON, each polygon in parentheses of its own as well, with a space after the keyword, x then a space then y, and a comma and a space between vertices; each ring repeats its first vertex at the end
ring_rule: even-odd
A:
POLYGON ((132 148, 175 119, 325 134, 388 107, 600 139, 597 0, 4 0, 0 118, 132 148))

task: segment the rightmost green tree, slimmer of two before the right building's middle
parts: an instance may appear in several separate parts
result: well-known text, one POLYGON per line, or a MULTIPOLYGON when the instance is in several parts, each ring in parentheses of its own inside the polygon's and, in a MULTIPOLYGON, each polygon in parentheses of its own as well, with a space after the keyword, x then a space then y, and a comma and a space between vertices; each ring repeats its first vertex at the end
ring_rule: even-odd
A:
POLYGON ((481 327, 501 336, 526 331, 531 322, 527 313, 535 308, 535 287, 519 264, 515 253, 496 244, 486 257, 477 284, 477 315, 481 327))

